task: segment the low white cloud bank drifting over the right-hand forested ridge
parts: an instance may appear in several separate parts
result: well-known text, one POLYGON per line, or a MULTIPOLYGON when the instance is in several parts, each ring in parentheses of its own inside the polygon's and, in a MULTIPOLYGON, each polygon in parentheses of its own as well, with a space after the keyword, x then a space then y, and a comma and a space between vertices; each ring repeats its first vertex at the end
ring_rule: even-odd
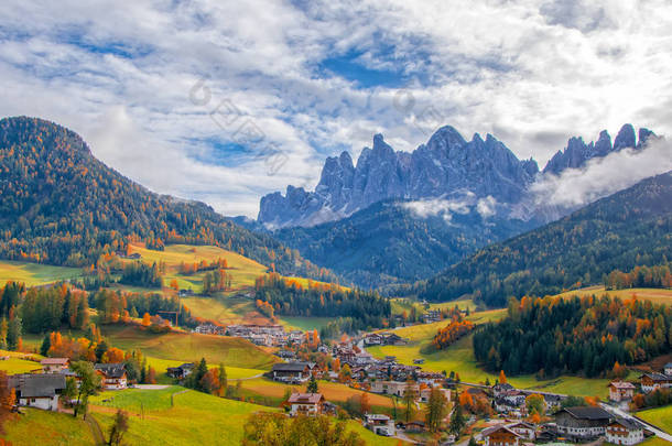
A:
POLYGON ((531 186, 538 205, 577 207, 630 187, 643 178, 672 170, 672 144, 651 141, 642 150, 625 149, 568 168, 560 176, 544 175, 531 186))

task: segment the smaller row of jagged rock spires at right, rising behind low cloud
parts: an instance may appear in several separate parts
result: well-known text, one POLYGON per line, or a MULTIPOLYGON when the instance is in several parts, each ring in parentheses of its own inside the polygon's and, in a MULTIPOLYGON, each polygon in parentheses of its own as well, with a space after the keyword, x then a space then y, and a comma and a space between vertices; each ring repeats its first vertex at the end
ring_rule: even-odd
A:
POLYGON ((617 152, 627 148, 641 149, 650 137, 655 134, 648 129, 639 129, 639 142, 635 134, 632 124, 625 124, 614 140, 606 130, 599 133, 597 142, 586 145, 582 138, 571 138, 564 151, 559 151, 549 161, 543 173, 560 175, 565 168, 577 168, 583 166, 588 160, 594 157, 607 156, 611 152, 617 152))

